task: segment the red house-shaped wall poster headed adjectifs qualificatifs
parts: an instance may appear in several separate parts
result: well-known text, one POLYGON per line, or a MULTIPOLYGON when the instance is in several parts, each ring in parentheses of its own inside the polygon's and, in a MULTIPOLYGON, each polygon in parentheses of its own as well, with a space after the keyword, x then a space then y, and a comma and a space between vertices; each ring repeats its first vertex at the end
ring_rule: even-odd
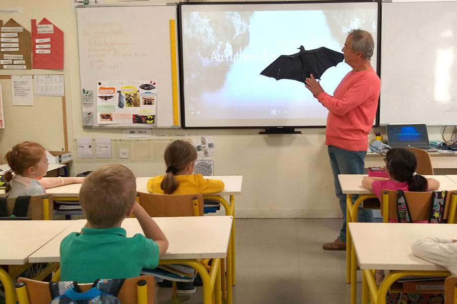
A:
POLYGON ((63 69, 63 31, 43 18, 31 19, 33 68, 63 69))

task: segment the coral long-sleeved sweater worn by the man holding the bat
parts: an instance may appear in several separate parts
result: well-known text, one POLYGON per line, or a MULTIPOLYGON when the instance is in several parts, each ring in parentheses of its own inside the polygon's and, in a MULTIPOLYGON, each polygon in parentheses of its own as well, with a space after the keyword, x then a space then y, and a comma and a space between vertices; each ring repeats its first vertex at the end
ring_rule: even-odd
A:
POLYGON ((320 93, 317 100, 329 110, 325 144, 350 151, 367 150, 380 90, 381 81, 371 68, 348 72, 333 96, 320 93))

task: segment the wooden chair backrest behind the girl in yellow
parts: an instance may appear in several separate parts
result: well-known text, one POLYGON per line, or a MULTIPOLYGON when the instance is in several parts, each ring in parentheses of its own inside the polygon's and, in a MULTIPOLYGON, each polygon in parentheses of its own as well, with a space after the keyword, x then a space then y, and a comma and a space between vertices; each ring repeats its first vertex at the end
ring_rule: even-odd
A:
POLYGON ((140 205, 152 217, 203 216, 201 194, 167 195, 138 193, 140 205))

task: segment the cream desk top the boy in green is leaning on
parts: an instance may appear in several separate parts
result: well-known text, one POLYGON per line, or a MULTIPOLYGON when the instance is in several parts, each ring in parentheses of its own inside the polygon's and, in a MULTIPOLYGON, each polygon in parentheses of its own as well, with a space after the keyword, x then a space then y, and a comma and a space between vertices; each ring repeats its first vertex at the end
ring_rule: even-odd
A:
MULTIPOLYGON (((232 216, 154 217, 170 243, 160 259, 226 257, 232 219, 232 216)), ((31 254, 28 261, 58 262, 60 241, 71 232, 81 231, 85 223, 85 219, 73 221, 66 230, 31 254)), ((124 219, 122 227, 127 231, 127 237, 143 233, 136 218, 124 219)))

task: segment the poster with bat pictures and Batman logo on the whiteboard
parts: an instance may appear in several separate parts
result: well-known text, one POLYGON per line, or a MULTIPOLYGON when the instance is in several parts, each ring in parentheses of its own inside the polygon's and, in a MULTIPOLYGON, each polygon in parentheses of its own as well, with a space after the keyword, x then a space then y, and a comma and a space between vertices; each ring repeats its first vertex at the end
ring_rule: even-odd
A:
POLYGON ((155 125, 155 82, 100 81, 96 95, 97 123, 155 125))

